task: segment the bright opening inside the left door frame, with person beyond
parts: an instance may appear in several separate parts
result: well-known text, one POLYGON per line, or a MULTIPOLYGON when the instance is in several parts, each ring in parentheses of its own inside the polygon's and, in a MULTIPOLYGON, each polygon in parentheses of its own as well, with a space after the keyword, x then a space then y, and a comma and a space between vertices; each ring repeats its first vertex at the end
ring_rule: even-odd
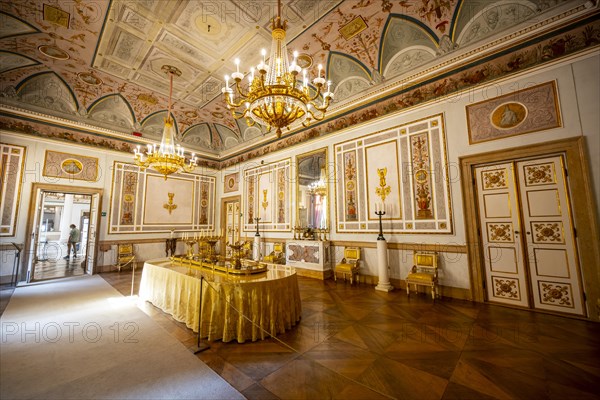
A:
POLYGON ((91 203, 89 194, 42 192, 33 281, 85 273, 91 203))

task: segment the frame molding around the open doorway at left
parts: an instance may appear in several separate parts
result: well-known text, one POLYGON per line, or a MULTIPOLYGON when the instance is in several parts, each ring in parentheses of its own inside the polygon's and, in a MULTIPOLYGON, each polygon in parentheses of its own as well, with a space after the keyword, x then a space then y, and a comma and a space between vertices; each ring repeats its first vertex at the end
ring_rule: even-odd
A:
MULTIPOLYGON (((59 193, 73 193, 73 194, 87 194, 87 195, 99 195, 98 199, 98 216, 96 221, 96 245, 94 246, 94 260, 97 259, 98 256, 98 241, 100 240, 100 217, 102 215, 102 196, 104 194, 104 189, 100 188, 92 188, 86 186, 69 186, 69 185, 52 185, 48 183, 38 183, 34 182, 31 184, 31 200, 29 201, 29 212, 27 214, 27 225, 25 229, 25 248, 24 248, 24 257, 21 264, 21 268, 19 268, 18 278, 21 280, 26 280, 27 278, 27 269, 29 266, 29 260, 32 256, 31 254, 31 235, 33 233, 33 221, 35 218, 35 213, 38 211, 35 209, 35 204, 37 202, 37 196, 35 194, 38 190, 42 190, 45 192, 59 192, 59 193), (25 279, 23 279, 25 277, 25 279)), ((92 275, 96 271, 96 264, 94 263, 94 269, 92 270, 92 275)), ((17 279, 18 281, 18 279, 17 279)))

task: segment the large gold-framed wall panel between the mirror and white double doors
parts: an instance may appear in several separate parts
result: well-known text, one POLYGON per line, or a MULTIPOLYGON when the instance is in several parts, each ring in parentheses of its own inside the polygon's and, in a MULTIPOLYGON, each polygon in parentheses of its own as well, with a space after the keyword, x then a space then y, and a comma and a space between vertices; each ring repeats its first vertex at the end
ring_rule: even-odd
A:
POLYGON ((336 232, 378 232, 378 220, 371 214, 374 201, 380 201, 373 199, 376 186, 383 181, 374 179, 373 171, 387 163, 393 167, 387 168, 391 173, 385 173, 382 187, 397 195, 386 207, 398 209, 386 210, 390 213, 382 221, 384 232, 452 233, 447 159, 442 114, 334 144, 336 232), (375 151, 390 144, 393 152, 375 151))

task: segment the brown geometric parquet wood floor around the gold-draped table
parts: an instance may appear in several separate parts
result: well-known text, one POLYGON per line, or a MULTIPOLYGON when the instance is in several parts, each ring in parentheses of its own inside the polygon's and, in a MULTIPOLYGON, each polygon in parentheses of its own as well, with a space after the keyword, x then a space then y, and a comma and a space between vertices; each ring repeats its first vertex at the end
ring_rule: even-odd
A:
MULTIPOLYGON (((102 276, 130 294, 130 272, 102 276)), ((343 281, 299 284, 295 328, 253 343, 211 342, 198 354, 249 399, 599 398, 600 324, 453 299, 434 304, 425 294, 409 299, 343 281)), ((195 344, 183 324, 141 307, 195 344)))

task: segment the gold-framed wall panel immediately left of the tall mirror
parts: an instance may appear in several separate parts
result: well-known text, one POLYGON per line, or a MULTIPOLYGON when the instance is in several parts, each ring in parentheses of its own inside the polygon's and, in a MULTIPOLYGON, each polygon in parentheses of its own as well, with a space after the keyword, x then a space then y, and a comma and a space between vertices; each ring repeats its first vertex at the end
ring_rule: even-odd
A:
POLYGON ((260 218, 263 232, 289 232, 292 229, 291 158, 248 168, 243 171, 243 231, 256 230, 260 218))

